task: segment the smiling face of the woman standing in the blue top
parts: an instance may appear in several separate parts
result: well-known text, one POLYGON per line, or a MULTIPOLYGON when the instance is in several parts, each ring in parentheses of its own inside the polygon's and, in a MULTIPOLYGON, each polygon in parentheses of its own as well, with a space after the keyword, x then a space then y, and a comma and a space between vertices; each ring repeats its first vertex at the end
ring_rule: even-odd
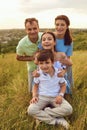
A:
POLYGON ((65 32, 67 30, 67 24, 64 20, 56 20, 55 21, 55 30, 57 32, 57 35, 65 35, 65 32))

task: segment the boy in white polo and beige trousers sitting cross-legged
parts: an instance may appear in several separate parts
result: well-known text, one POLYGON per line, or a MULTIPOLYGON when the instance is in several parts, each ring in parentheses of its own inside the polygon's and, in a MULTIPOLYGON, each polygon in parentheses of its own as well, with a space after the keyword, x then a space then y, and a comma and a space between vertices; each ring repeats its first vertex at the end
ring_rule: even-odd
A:
POLYGON ((51 50, 42 50, 37 60, 40 76, 34 78, 33 98, 28 114, 47 124, 60 124, 68 129, 69 124, 63 117, 72 113, 72 106, 63 98, 66 81, 57 76, 58 69, 53 66, 54 54, 51 50), (48 104, 53 108, 46 107, 48 104))

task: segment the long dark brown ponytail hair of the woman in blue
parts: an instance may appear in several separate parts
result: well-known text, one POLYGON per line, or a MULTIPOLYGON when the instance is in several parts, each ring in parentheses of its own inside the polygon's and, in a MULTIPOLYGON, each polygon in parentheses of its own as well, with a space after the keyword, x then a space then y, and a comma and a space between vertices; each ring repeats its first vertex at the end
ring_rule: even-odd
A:
POLYGON ((64 44, 65 45, 71 45, 72 37, 71 37, 71 34, 70 34, 70 30, 69 30, 69 25, 70 25, 69 18, 66 15, 59 15, 55 18, 55 23, 56 23, 57 20, 64 20, 66 22, 68 28, 67 28, 65 36, 64 36, 64 42, 65 42, 64 44))

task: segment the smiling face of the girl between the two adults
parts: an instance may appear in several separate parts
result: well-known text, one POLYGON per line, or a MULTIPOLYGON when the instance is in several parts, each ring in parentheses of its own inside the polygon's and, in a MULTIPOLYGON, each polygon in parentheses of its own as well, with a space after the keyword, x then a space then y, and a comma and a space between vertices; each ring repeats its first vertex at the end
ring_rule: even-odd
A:
POLYGON ((51 34, 45 33, 42 36, 42 47, 44 49, 54 50, 55 44, 56 44, 56 42, 54 41, 54 38, 53 38, 53 36, 51 34))

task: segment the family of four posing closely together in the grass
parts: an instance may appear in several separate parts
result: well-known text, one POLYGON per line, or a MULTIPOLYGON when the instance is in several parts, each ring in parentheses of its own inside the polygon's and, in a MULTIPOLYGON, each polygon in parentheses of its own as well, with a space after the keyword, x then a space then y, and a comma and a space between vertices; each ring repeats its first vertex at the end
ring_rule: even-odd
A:
POLYGON ((65 117, 73 108, 65 95, 72 95, 73 41, 67 16, 57 16, 54 23, 54 32, 40 32, 36 18, 25 19, 27 35, 17 45, 16 58, 27 61, 28 91, 32 93, 28 114, 40 122, 69 129, 65 117))

